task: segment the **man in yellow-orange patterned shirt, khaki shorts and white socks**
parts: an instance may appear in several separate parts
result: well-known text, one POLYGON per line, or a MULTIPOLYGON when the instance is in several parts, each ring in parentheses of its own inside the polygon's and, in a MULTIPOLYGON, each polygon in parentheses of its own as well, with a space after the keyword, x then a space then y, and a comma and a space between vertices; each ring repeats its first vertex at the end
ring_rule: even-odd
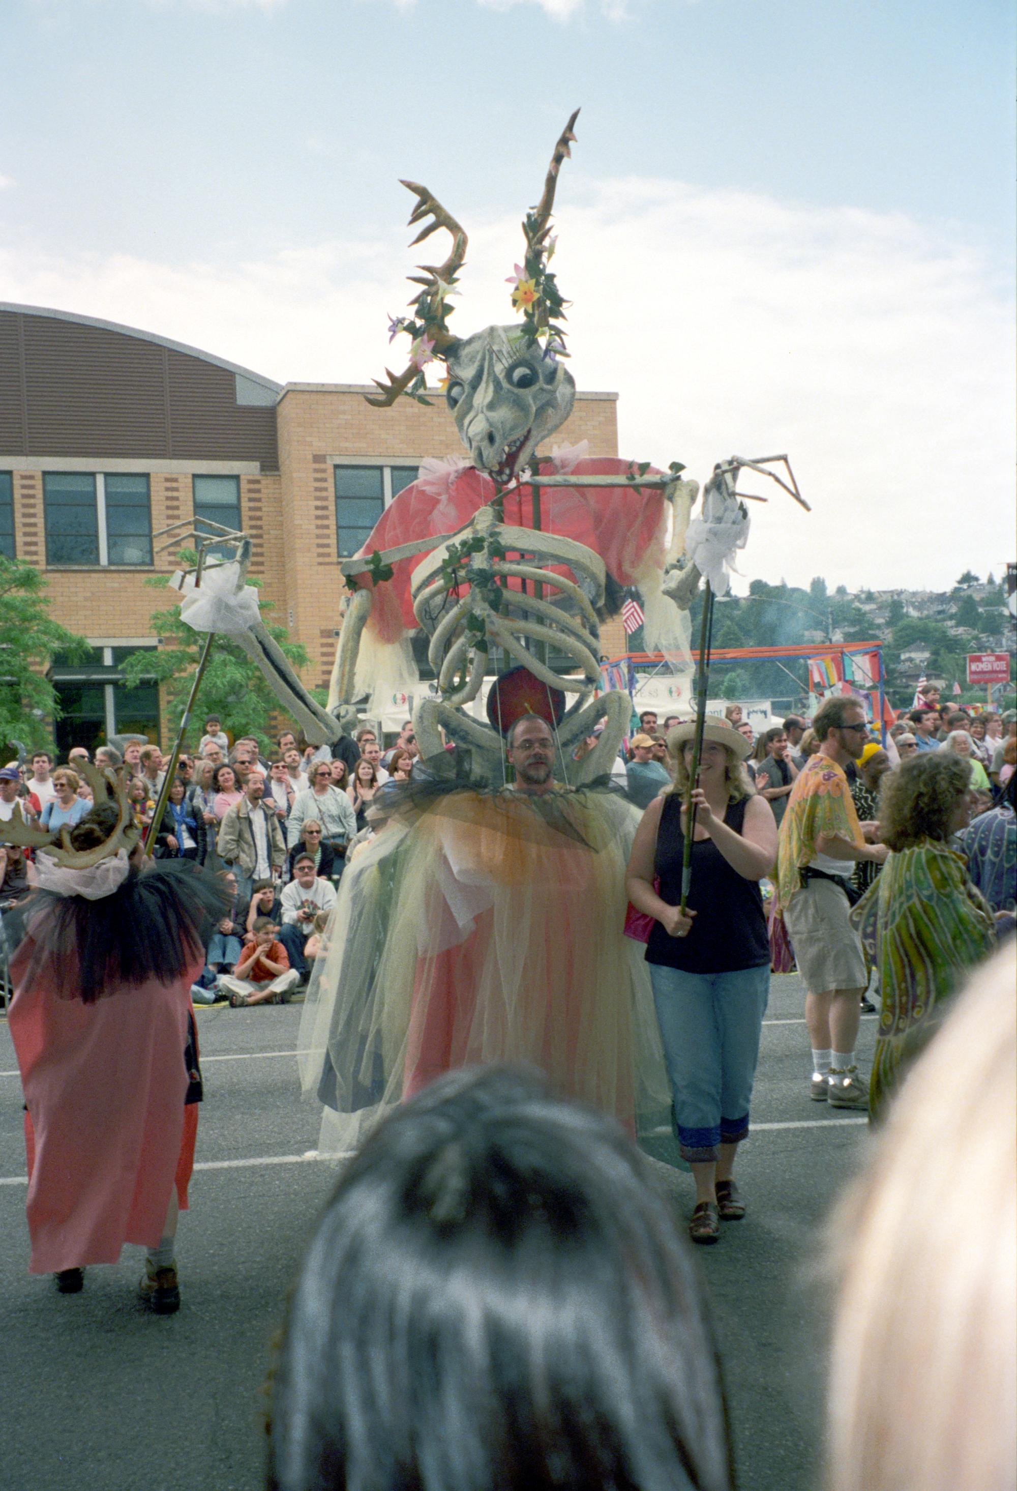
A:
POLYGON ((847 875, 856 860, 881 865, 889 850, 872 842, 878 825, 859 823, 844 774, 869 735, 860 704, 828 699, 813 729, 819 751, 798 774, 780 825, 777 895, 807 989, 811 1096, 834 1108, 865 1108, 868 1081, 854 1065, 854 1042, 868 971, 848 921, 847 875))

